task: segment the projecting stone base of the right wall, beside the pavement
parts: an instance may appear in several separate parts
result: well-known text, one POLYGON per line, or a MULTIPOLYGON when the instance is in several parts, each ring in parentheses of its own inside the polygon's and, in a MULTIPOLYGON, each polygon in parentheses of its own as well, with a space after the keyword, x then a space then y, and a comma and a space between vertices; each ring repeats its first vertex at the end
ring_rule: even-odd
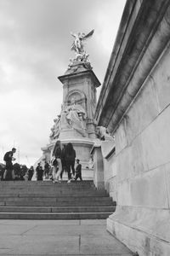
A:
POLYGON ((141 256, 170 253, 168 210, 122 207, 107 219, 107 230, 141 256))

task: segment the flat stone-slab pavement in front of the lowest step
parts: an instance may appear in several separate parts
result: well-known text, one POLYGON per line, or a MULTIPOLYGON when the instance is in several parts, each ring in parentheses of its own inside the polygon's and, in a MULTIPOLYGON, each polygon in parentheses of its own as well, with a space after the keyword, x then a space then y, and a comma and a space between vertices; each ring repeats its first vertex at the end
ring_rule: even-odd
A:
POLYGON ((133 255, 106 220, 0 219, 0 255, 133 255))

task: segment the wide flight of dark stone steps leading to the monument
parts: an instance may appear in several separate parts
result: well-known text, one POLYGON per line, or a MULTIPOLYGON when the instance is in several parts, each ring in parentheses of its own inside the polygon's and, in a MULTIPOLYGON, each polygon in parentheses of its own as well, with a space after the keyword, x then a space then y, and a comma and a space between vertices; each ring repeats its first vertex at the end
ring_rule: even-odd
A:
POLYGON ((115 208, 116 202, 92 181, 0 183, 1 219, 108 218, 115 208))

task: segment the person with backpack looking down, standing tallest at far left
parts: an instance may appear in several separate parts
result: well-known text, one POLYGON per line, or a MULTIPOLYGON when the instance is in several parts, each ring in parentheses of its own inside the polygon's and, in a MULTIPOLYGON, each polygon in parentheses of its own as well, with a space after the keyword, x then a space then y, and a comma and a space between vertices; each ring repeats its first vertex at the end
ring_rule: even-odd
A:
POLYGON ((12 148, 11 151, 8 151, 4 154, 3 160, 5 161, 5 172, 3 173, 4 180, 12 180, 14 179, 14 168, 12 161, 15 160, 13 154, 16 152, 16 148, 12 148))

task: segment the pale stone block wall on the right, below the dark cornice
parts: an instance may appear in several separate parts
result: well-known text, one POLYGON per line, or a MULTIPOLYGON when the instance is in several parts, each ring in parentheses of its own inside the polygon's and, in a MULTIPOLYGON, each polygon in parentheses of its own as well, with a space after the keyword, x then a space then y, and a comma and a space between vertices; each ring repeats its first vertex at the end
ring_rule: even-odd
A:
POLYGON ((115 134, 118 207, 107 228, 139 255, 170 254, 169 61, 167 49, 115 134))

